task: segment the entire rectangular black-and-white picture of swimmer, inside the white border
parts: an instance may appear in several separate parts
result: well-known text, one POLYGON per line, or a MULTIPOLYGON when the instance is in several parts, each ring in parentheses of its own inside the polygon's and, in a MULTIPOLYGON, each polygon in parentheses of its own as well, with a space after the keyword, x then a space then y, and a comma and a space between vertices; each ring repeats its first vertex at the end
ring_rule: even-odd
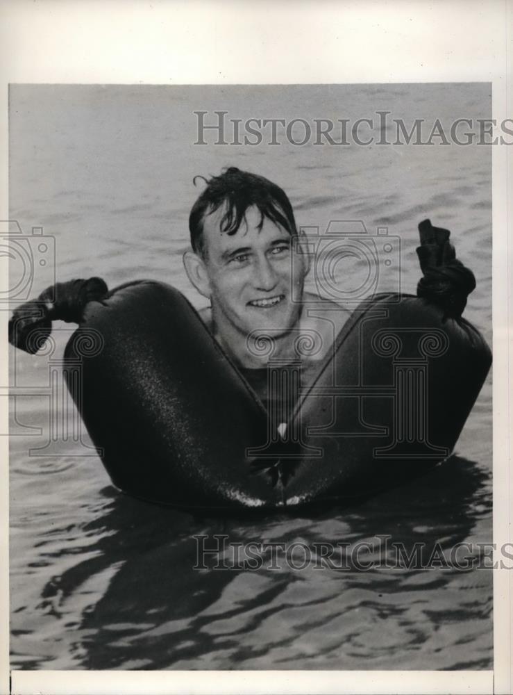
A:
POLYGON ((490 117, 10 86, 12 669, 493 667, 490 117))

